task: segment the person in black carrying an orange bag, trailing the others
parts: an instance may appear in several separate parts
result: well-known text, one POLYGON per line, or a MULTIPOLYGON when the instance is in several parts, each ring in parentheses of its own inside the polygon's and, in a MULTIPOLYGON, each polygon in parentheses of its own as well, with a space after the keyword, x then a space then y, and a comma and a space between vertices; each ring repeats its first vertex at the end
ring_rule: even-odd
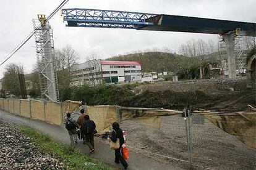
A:
POLYGON ((112 124, 112 127, 113 127, 113 132, 111 134, 110 139, 113 142, 116 142, 117 138, 119 138, 119 142, 120 142, 120 147, 114 150, 114 155, 115 155, 114 162, 117 164, 121 163, 122 166, 124 166, 124 169, 127 169, 128 164, 121 155, 121 147, 124 144, 124 136, 122 136, 122 129, 119 128, 119 124, 117 122, 114 122, 112 124))

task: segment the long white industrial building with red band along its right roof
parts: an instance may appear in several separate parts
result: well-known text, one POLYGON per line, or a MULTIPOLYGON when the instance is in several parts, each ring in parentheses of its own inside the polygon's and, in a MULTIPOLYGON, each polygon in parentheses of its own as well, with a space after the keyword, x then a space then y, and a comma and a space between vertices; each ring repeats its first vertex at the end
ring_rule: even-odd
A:
POLYGON ((141 81, 140 62, 90 60, 74 65, 71 85, 141 81))

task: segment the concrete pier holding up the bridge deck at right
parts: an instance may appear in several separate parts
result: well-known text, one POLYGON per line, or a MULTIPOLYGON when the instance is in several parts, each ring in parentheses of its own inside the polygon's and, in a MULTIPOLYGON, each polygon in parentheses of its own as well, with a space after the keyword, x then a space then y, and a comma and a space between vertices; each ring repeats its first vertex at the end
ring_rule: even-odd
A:
POLYGON ((224 34, 228 54, 228 78, 236 78, 236 56, 234 56, 234 33, 224 34))

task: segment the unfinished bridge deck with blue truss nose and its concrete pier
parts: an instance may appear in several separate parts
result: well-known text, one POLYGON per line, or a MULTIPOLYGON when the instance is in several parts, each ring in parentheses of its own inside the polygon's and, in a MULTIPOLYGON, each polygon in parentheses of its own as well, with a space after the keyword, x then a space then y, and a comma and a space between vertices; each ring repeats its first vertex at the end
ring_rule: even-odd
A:
POLYGON ((219 34, 226 43, 229 78, 236 78, 234 37, 256 36, 256 23, 249 22, 79 8, 62 9, 62 15, 66 26, 219 34))

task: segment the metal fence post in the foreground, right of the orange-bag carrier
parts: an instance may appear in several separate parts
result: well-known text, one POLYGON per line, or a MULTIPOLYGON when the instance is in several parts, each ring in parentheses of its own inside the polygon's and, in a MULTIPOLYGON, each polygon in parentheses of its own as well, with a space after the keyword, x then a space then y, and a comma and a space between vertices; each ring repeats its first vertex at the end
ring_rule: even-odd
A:
POLYGON ((189 157, 189 168, 192 169, 191 136, 190 136, 191 134, 190 134, 189 114, 190 113, 187 110, 187 108, 184 108, 184 120, 185 120, 185 123, 186 123, 186 137, 187 137, 187 153, 188 153, 188 157, 189 157))

